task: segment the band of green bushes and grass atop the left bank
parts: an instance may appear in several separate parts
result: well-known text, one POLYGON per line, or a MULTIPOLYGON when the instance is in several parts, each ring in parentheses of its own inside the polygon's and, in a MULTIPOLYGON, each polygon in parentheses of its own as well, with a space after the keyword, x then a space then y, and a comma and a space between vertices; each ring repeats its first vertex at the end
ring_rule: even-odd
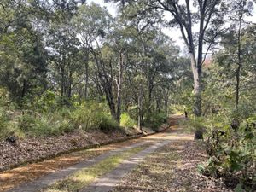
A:
POLYGON ((81 129, 89 131, 118 129, 118 123, 105 103, 80 102, 61 108, 53 92, 47 92, 32 106, 20 110, 5 106, 1 109, 1 138, 50 137, 81 129))

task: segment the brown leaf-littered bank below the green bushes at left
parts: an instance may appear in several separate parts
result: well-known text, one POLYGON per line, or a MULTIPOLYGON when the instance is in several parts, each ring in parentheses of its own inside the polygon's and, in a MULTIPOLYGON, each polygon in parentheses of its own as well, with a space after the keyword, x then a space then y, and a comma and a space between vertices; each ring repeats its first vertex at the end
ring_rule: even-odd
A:
POLYGON ((104 133, 99 130, 74 131, 55 137, 31 137, 12 144, 0 142, 0 168, 16 165, 28 160, 40 160, 47 156, 63 153, 76 148, 84 148, 95 143, 106 143, 127 137, 124 131, 104 133))

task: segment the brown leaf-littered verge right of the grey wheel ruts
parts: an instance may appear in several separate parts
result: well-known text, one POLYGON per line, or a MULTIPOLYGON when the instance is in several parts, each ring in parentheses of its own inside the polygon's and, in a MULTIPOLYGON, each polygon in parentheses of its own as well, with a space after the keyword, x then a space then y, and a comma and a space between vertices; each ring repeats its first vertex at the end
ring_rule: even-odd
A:
POLYGON ((122 179, 114 192, 230 192, 223 180, 205 177, 197 165, 207 160, 202 143, 177 129, 172 142, 150 154, 122 179))

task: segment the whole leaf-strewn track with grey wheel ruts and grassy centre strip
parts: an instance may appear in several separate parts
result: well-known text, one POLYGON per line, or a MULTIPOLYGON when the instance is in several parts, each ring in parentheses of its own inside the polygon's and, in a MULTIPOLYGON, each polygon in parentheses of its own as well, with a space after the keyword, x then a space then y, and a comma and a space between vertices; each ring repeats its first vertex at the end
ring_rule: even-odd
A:
POLYGON ((197 171, 204 160, 202 143, 172 125, 152 136, 0 172, 0 191, 232 191, 197 171))

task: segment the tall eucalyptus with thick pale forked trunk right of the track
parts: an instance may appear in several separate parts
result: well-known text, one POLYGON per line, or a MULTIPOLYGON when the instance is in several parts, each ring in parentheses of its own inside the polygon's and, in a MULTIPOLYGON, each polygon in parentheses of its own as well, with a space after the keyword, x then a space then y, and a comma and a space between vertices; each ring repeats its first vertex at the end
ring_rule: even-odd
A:
POLYGON ((137 12, 138 15, 146 15, 147 12, 158 14, 159 10, 172 15, 172 19, 167 20, 168 26, 179 27, 183 41, 189 50, 194 77, 194 113, 196 116, 201 116, 202 65, 224 22, 225 2, 220 0, 127 0, 121 3, 141 7, 137 12), (198 30, 195 30, 195 27, 198 27, 198 30), (208 45, 204 47, 206 43, 208 45), (203 53, 204 49, 207 50, 206 53, 203 53))

